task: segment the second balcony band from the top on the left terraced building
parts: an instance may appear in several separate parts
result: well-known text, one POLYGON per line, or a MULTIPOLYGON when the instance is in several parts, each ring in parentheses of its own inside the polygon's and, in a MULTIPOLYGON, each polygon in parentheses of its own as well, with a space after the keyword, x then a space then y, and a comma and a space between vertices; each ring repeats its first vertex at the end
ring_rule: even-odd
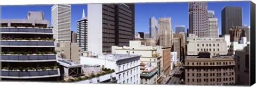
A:
POLYGON ((1 47, 54 47, 54 41, 1 41, 1 47))

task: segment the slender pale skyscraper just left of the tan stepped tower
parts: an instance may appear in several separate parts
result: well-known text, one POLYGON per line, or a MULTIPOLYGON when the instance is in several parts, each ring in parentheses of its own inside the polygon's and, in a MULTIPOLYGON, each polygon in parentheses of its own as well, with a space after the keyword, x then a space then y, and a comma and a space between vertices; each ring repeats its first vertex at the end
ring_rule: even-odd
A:
POLYGON ((149 37, 150 38, 156 38, 156 31, 157 31, 157 20, 155 16, 153 15, 152 18, 149 19, 149 37))

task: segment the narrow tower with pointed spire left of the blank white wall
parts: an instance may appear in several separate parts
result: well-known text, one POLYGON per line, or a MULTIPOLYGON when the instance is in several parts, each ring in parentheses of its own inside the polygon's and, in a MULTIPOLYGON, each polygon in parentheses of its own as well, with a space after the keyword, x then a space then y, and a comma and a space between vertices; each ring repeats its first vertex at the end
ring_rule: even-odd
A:
POLYGON ((82 19, 76 21, 76 42, 77 46, 81 47, 81 50, 87 51, 88 50, 88 27, 87 27, 87 18, 85 17, 84 10, 82 14, 82 19))

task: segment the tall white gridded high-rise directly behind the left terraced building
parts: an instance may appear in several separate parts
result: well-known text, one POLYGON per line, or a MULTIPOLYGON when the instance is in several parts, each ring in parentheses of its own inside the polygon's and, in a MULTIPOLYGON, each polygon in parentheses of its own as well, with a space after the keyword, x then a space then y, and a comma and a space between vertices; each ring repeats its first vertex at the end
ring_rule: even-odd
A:
POLYGON ((55 4, 52 6, 52 27, 55 42, 71 42, 71 5, 55 4))

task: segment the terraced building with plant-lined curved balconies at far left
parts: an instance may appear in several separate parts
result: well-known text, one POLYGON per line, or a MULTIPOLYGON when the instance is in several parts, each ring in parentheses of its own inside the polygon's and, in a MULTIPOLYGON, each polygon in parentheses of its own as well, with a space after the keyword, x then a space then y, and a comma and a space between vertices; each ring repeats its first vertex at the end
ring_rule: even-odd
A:
POLYGON ((0 23, 2 80, 59 79, 53 30, 43 12, 28 12, 26 19, 3 19, 0 23))

